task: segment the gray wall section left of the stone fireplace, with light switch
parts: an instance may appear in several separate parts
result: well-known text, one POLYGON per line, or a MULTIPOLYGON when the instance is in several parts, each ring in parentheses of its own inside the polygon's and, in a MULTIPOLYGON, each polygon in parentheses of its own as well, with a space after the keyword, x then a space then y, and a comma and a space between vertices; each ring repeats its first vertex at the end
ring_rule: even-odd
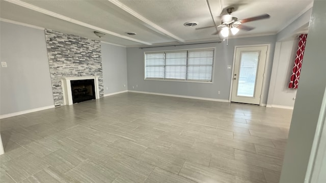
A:
POLYGON ((0 114, 53 105, 45 35, 40 29, 1 21, 0 114))

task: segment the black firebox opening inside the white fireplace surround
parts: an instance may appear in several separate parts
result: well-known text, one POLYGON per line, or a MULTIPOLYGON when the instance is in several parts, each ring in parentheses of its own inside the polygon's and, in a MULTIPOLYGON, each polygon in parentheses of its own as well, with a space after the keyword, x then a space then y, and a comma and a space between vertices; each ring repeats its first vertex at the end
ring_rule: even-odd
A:
POLYGON ((94 79, 71 80, 72 103, 96 99, 94 79))

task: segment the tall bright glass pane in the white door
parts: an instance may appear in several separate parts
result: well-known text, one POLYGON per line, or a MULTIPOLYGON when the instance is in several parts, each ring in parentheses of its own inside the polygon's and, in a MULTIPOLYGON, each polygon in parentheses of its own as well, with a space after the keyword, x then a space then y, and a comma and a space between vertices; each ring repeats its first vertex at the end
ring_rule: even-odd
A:
POLYGON ((260 51, 241 52, 237 96, 254 97, 260 51))

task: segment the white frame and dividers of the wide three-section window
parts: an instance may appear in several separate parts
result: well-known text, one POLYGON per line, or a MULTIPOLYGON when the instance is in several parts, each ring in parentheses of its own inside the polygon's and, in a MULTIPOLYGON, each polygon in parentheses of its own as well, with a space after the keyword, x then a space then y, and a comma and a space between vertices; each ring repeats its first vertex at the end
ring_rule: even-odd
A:
MULTIPOLYGON (((160 50, 160 51, 144 51, 144 80, 149 81, 172 81, 172 82, 193 82, 193 83, 208 83, 213 84, 214 83, 214 70, 215 70, 215 51, 216 47, 205 47, 205 48, 192 48, 192 49, 178 49, 178 50, 160 50), (211 81, 199 81, 199 80, 184 80, 184 79, 159 79, 159 78, 146 78, 146 53, 162 53, 162 52, 178 52, 178 51, 201 51, 201 50, 213 50, 213 64, 212 64, 212 80, 211 81)), ((187 55, 188 57, 188 55, 187 55)), ((164 59, 164 65, 165 65, 165 59, 164 59)), ((187 65, 188 67, 188 58, 187 58, 187 65)), ((187 70, 187 69, 186 69, 187 70)), ((186 71, 187 72, 187 71, 186 71)))

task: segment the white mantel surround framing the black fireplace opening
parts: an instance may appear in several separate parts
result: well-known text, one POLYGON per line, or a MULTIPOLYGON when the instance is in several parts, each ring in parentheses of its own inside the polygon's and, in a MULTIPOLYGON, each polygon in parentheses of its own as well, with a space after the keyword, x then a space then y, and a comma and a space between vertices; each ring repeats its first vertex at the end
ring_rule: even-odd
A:
POLYGON ((62 77, 62 90, 63 90, 63 100, 65 105, 72 105, 72 94, 70 81, 72 80, 84 80, 84 79, 94 79, 95 84, 95 98, 99 99, 99 87, 98 87, 98 77, 99 76, 80 76, 80 77, 62 77))

